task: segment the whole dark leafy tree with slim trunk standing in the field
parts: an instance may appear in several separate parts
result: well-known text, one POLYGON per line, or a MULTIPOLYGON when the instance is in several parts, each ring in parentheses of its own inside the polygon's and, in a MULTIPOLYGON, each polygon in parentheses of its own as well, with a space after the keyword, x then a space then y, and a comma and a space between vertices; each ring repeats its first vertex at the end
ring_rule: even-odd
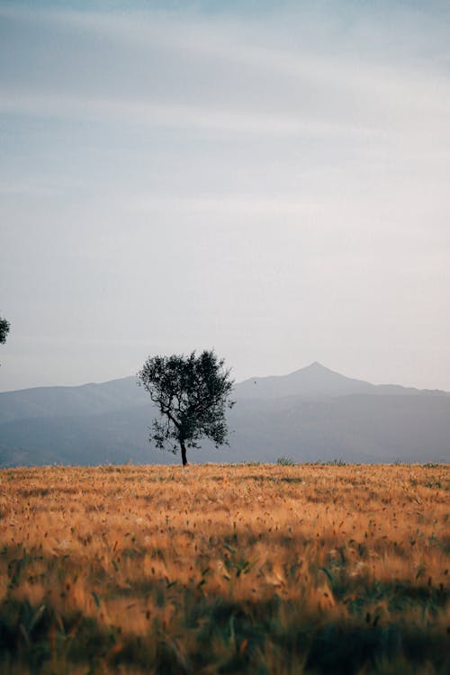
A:
POLYGON ((138 373, 139 386, 157 405, 159 419, 153 421, 152 434, 157 447, 166 445, 176 454, 181 450, 187 464, 186 447, 200 447, 197 441, 210 438, 216 447, 227 443, 226 408, 233 381, 223 359, 213 351, 189 356, 148 356, 138 373))

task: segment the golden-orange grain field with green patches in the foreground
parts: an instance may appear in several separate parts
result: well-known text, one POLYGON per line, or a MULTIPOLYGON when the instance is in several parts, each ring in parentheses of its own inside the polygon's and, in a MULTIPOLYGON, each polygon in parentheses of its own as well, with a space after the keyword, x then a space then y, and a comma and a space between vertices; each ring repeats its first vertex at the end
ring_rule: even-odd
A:
POLYGON ((0 472, 2 673, 448 673, 445 465, 0 472))

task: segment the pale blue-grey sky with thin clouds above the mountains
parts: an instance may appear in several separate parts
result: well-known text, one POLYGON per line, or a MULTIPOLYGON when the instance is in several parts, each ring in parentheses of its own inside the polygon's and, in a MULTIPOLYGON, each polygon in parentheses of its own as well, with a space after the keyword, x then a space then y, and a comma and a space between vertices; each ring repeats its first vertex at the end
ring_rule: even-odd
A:
POLYGON ((0 0, 0 391, 450 391, 449 297, 450 3, 0 0))

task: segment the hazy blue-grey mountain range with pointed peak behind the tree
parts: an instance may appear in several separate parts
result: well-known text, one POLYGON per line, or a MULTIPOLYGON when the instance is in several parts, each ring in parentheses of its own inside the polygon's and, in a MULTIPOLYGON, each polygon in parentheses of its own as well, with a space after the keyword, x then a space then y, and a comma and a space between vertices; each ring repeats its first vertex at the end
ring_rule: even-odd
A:
MULTIPOLYGON (((447 462, 450 394, 374 385, 317 362, 235 386, 229 447, 205 442, 195 462, 447 462)), ((135 377, 0 393, 0 464, 167 464, 148 443, 154 417, 135 377)))

